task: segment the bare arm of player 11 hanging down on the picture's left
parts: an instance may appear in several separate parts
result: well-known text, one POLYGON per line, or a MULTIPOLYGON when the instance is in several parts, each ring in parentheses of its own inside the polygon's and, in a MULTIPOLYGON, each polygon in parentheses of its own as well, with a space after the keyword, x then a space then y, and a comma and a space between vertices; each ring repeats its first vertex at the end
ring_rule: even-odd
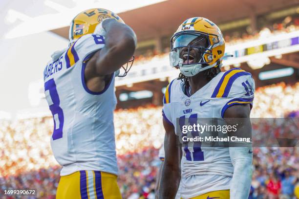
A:
POLYGON ((159 186, 159 199, 174 199, 181 180, 181 149, 176 142, 174 127, 163 118, 166 131, 165 159, 159 186))

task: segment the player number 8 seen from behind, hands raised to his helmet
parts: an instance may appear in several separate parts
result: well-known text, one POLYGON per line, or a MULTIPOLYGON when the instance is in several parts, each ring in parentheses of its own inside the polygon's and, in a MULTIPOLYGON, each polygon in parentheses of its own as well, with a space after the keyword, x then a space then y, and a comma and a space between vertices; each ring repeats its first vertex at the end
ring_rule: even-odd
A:
POLYGON ((72 20, 69 47, 54 53, 45 67, 45 97, 54 119, 51 147, 63 166, 57 199, 122 198, 114 79, 122 66, 128 72, 135 47, 135 33, 119 16, 89 9, 72 20))

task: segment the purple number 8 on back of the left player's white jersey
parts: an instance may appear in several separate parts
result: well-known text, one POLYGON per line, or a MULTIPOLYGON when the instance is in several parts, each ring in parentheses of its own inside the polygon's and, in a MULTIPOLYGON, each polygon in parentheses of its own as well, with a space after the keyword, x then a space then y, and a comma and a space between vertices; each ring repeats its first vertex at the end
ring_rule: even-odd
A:
POLYGON ((60 100, 54 79, 50 79, 46 83, 44 83, 44 91, 45 93, 48 92, 50 95, 46 97, 51 98, 47 99, 47 101, 54 120, 54 131, 52 134, 52 138, 53 140, 60 139, 63 137, 64 112, 59 106, 60 100))

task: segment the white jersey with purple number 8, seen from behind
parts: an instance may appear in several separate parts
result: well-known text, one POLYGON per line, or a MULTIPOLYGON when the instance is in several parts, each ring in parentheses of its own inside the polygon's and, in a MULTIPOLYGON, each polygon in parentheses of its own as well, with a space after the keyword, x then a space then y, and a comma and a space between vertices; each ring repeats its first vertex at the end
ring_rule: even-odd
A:
POLYGON ((61 176, 80 170, 118 173, 114 73, 101 92, 89 90, 84 76, 87 60, 104 46, 101 35, 82 36, 44 69, 44 93, 54 120, 51 147, 63 166, 61 176))

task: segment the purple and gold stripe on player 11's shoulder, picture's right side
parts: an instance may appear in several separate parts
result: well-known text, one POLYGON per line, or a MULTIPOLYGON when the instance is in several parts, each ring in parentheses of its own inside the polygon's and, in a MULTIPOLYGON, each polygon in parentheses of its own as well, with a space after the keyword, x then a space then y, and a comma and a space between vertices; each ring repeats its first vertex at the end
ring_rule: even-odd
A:
POLYGON ((249 72, 246 72, 245 70, 241 70, 240 68, 234 68, 231 70, 226 71, 223 76, 221 77, 220 81, 218 82, 216 88, 214 89, 214 92, 212 94, 212 98, 215 97, 227 97, 234 81, 244 75, 250 75, 249 72))

